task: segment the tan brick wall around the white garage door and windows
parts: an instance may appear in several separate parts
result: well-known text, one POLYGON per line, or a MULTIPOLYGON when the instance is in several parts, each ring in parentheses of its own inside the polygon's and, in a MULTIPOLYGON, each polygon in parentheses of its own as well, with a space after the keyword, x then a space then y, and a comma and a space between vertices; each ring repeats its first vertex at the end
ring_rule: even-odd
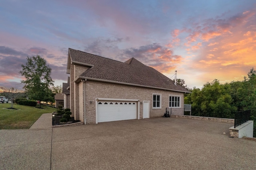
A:
POLYGON ((169 106, 169 95, 181 96, 180 105, 183 106, 184 94, 182 92, 173 92, 167 90, 157 90, 151 88, 140 88, 134 86, 125 86, 110 84, 104 82, 86 81, 86 124, 96 123, 96 98, 114 98, 114 99, 136 99, 140 100, 140 119, 143 117, 143 101, 150 101, 150 117, 161 117, 164 115, 166 107, 169 106), (153 93, 162 95, 162 108, 152 108, 153 93), (92 101, 92 104, 90 104, 92 101))

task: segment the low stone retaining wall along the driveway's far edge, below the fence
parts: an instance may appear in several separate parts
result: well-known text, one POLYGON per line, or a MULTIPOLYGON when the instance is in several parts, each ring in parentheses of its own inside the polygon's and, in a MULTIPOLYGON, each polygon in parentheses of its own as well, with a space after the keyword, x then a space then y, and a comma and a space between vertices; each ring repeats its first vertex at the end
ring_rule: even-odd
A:
POLYGON ((200 117, 200 116, 186 116, 186 115, 170 115, 170 117, 234 123, 234 119, 225 119, 225 118, 216 118, 216 117, 200 117))

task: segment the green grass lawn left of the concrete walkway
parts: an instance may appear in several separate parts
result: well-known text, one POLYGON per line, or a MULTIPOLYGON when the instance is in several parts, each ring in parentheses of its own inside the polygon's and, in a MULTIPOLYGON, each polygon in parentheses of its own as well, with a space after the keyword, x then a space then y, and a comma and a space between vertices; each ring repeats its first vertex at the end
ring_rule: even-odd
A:
POLYGON ((43 105, 44 109, 18 104, 14 104, 15 109, 6 109, 10 107, 10 103, 0 104, 0 129, 29 129, 42 114, 56 111, 56 108, 43 105))

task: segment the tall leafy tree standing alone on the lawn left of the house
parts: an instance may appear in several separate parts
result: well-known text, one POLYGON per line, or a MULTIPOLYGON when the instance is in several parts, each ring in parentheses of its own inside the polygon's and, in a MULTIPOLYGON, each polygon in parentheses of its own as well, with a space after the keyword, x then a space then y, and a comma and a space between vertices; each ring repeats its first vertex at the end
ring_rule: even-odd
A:
POLYGON ((32 100, 38 100, 40 107, 41 101, 45 101, 50 96, 50 86, 53 86, 53 80, 50 76, 52 69, 46 64, 46 60, 39 55, 36 57, 27 57, 26 65, 21 65, 20 74, 25 76, 24 89, 32 100))

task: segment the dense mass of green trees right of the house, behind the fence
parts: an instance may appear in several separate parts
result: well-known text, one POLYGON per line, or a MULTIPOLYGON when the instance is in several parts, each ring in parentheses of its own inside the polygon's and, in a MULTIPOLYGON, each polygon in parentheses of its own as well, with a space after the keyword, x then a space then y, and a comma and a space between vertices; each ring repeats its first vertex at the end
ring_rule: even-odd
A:
POLYGON ((192 108, 196 109, 214 109, 222 113, 222 117, 230 118, 234 117, 231 114, 233 111, 250 110, 250 119, 256 122, 256 70, 252 68, 247 75, 243 81, 220 84, 219 80, 215 79, 204 84, 201 90, 194 87, 192 93, 184 97, 184 103, 191 104, 192 108))

